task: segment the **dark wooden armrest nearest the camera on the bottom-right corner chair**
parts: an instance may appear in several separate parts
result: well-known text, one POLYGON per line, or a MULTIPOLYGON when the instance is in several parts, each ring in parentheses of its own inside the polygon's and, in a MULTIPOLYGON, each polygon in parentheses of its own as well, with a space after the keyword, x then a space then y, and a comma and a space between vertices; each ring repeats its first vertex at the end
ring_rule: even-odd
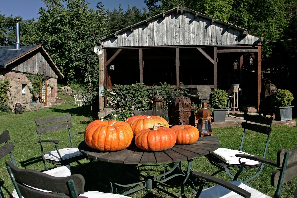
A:
POLYGON ((241 195, 242 197, 245 197, 245 198, 249 198, 251 197, 251 193, 238 187, 238 186, 235 186, 234 184, 232 183, 229 183, 225 180, 222 180, 222 179, 219 179, 219 178, 216 178, 216 177, 213 177, 211 175, 206 175, 206 174, 203 174, 203 173, 200 173, 200 172, 192 172, 191 173, 192 177, 196 177, 196 178, 202 178, 202 179, 205 179, 207 181, 210 181, 210 182, 213 182, 213 183, 216 183, 220 186, 223 186, 231 191, 234 191, 236 192, 237 194, 241 195))

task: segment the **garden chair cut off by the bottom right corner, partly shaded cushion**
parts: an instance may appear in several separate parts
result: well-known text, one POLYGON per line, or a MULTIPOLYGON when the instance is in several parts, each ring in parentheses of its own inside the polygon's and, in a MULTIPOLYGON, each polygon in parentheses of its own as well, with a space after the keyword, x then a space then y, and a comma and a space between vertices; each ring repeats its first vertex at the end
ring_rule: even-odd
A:
MULTIPOLYGON (((240 160, 244 161, 244 158, 259 161, 271 166, 277 167, 271 174, 271 186, 277 187, 274 198, 279 198, 281 195, 282 184, 294 179, 297 176, 297 146, 291 150, 280 149, 277 153, 277 161, 271 161, 268 159, 238 154, 238 157, 242 157, 240 160)), ((242 163, 244 166, 244 162, 242 163)), ((243 168, 243 166, 241 168, 243 168)), ((241 169, 242 170, 242 169, 241 169)), ((238 171, 238 174, 241 172, 238 171)), ((205 183, 200 183, 200 188, 196 192, 196 197, 200 198, 211 198, 211 197, 224 197, 224 198, 237 198, 237 197, 251 197, 251 198, 270 198, 268 195, 253 189, 252 187, 241 183, 237 180, 231 182, 226 182, 224 180, 215 178, 210 175, 206 175, 200 172, 192 172, 191 176, 194 179, 201 178, 207 182, 214 182, 219 184, 217 186, 212 186, 210 188, 204 189, 205 183)), ((295 189, 295 196, 297 197, 297 188, 295 189)))

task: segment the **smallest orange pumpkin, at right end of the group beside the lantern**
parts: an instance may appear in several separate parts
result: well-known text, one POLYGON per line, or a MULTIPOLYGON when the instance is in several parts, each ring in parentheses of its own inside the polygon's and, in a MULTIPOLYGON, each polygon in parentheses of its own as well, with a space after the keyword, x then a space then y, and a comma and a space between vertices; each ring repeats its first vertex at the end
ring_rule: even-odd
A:
POLYGON ((199 138, 199 131, 195 126, 176 125, 171 127, 176 134, 176 144, 192 144, 199 138))

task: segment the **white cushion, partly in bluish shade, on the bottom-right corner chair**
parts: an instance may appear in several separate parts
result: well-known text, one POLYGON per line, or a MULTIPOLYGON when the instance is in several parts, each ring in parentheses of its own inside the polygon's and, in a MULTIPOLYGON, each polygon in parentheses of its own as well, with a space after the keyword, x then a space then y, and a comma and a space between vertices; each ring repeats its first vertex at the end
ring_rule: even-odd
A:
MULTIPOLYGON (((271 198, 266 194, 263 194, 260 191, 257 191, 256 189, 253 189, 252 187, 249 187, 239 181, 231 181, 230 183, 236 186, 239 186, 240 188, 250 192, 251 198, 271 198)), ((200 194, 200 198, 214 198, 214 197, 215 198, 236 198, 236 197, 242 197, 242 196, 219 185, 212 186, 208 189, 204 189, 200 194)))

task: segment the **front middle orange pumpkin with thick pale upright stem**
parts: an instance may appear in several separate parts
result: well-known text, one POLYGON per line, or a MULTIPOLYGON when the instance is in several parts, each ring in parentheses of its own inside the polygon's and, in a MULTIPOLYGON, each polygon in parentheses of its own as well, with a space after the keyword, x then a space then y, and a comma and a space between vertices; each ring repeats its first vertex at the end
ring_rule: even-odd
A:
POLYGON ((170 128, 163 126, 143 129, 135 136, 135 145, 144 151, 165 151, 175 145, 176 134, 170 128))

